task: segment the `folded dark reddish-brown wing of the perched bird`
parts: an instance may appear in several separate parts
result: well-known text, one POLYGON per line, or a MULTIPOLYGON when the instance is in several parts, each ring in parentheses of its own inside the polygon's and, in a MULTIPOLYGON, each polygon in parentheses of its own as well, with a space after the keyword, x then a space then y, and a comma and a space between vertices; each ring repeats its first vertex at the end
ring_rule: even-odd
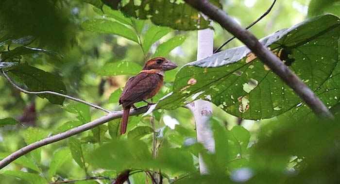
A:
POLYGON ((158 74, 139 73, 125 85, 119 99, 120 103, 127 106, 143 100, 157 87, 160 81, 161 76, 158 74))

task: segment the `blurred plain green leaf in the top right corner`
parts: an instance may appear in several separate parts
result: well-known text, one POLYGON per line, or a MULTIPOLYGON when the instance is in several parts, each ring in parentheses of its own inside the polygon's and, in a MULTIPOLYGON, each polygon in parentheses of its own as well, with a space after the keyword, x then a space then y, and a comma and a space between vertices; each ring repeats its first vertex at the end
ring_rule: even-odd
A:
POLYGON ((308 17, 331 13, 340 16, 340 0, 311 0, 308 5, 308 17))

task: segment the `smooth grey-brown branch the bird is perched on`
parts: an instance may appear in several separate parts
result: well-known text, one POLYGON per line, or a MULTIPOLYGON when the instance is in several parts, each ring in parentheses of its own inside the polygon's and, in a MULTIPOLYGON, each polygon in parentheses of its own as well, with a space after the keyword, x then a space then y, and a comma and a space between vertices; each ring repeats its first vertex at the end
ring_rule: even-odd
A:
MULTIPOLYGON (((140 107, 136 110, 132 109, 130 111, 130 116, 145 113, 148 110, 148 108, 149 108, 149 106, 144 106, 144 107, 140 107)), ((119 117, 122 117, 122 115, 123 115, 123 111, 114 111, 114 112, 107 114, 106 116, 100 117, 96 120, 88 122, 88 123, 81 125, 79 127, 70 129, 70 130, 63 132, 63 133, 60 133, 60 134, 52 135, 52 136, 47 137, 45 139, 42 139, 42 140, 39 140, 39 141, 34 142, 32 144, 29 144, 29 145, 19 149, 18 151, 15 151, 12 154, 6 156, 4 159, 2 159, 0 161, 0 169, 7 166, 8 164, 13 162, 14 160, 19 158, 20 156, 22 156, 22 155, 24 155, 24 154, 26 154, 30 151, 33 151, 33 150, 40 148, 42 146, 51 144, 53 142, 57 142, 57 141, 66 139, 66 138, 68 138, 72 135, 79 134, 79 133, 84 132, 86 130, 92 129, 96 126, 99 126, 99 125, 106 123, 108 121, 111 121, 113 119, 118 119, 119 117)))

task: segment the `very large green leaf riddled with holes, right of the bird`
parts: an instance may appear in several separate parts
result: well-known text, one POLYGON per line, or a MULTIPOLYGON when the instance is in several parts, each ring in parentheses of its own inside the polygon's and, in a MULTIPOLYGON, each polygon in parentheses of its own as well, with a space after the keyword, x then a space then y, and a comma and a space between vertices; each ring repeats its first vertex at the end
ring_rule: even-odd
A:
MULTIPOLYGON (((334 70, 338 70, 335 67, 338 63, 339 26, 338 17, 325 15, 260 41, 308 87, 318 92, 334 70)), ((225 50, 185 65, 176 75, 173 91, 158 103, 158 108, 174 109, 202 98, 232 115, 260 119, 285 113, 301 102, 294 91, 246 47, 225 50)), ((327 99, 322 100, 328 103, 327 99)))

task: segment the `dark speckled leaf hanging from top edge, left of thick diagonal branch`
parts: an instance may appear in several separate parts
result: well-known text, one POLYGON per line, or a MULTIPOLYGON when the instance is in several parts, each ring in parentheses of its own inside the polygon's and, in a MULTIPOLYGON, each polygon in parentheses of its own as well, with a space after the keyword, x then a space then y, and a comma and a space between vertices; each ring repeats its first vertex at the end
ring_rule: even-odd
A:
MULTIPOLYGON (((120 9, 126 16, 139 19, 149 18, 154 24, 168 26, 176 30, 199 30, 209 27, 209 21, 199 15, 198 11, 181 0, 141 0, 140 4, 134 0, 102 0, 112 9, 120 9)), ((218 0, 214 4, 221 7, 218 0)))

